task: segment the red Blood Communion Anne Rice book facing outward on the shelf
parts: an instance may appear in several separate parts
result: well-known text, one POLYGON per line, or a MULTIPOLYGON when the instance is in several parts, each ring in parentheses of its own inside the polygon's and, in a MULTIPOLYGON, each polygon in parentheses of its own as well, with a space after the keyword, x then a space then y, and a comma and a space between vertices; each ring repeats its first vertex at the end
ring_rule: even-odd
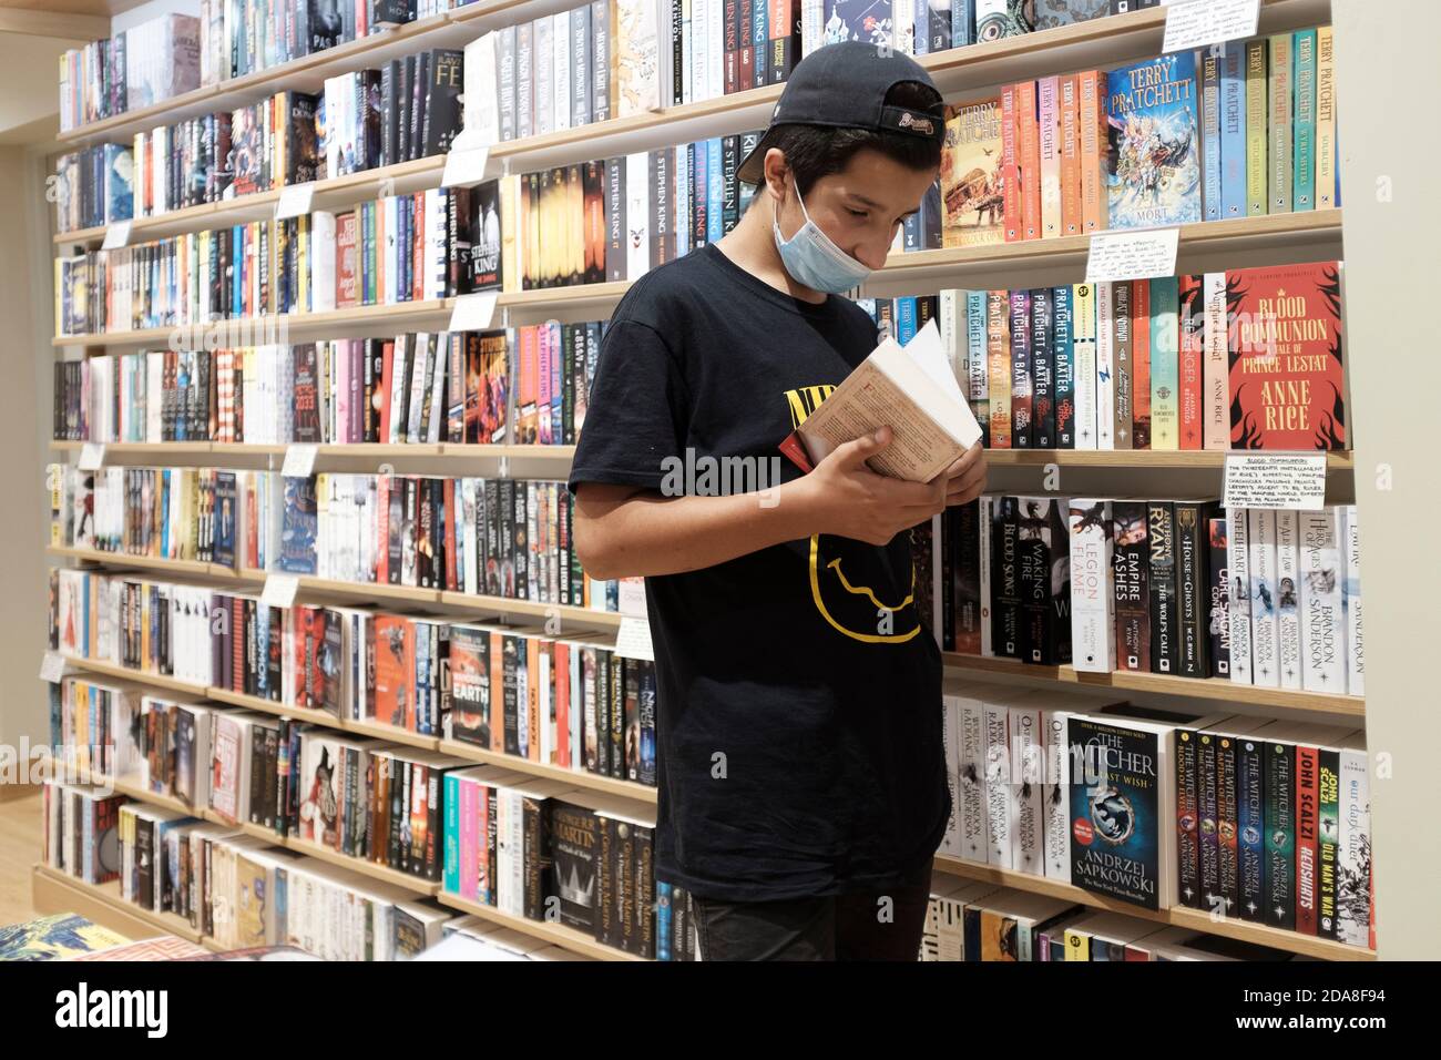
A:
POLYGON ((1231 447, 1346 449, 1340 262, 1226 273, 1231 447))

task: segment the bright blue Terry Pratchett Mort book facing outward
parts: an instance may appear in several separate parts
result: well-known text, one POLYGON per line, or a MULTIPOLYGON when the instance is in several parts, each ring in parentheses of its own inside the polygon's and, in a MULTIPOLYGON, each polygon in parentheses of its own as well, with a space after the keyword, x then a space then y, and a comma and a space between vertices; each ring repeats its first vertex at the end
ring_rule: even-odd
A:
POLYGON ((1193 52, 1107 75, 1104 179, 1111 228, 1200 221, 1193 52))

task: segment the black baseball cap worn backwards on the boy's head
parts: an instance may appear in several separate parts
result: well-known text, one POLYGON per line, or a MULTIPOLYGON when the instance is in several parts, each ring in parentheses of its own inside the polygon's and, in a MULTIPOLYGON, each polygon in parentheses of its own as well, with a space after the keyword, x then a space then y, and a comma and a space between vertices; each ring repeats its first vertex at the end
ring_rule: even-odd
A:
MULTIPOLYGON (((817 48, 791 71, 780 102, 771 111, 765 136, 745 156, 736 179, 748 185, 761 183, 765 153, 775 146, 777 125, 869 128, 941 143, 945 138, 945 118, 940 105, 934 111, 886 105, 886 94, 902 81, 919 81, 935 88, 921 63, 893 48, 865 40, 840 40, 817 48)), ((937 98, 940 95, 937 91, 937 98)))

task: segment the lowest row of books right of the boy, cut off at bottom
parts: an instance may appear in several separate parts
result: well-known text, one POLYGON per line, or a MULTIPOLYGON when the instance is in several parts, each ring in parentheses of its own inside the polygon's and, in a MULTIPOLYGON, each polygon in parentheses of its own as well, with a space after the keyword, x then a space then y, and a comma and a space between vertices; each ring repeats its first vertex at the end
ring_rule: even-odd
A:
POLYGON ((921 960, 1300 960, 1294 953, 1097 913, 1065 898, 940 877, 931 887, 921 960))

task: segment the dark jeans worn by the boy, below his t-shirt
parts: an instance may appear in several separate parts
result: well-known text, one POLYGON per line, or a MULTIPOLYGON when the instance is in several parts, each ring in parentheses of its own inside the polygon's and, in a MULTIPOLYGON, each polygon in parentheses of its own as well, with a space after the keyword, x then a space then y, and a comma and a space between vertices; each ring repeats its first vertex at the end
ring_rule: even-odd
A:
POLYGON ((916 960, 929 897, 927 864, 916 883, 875 891, 782 901, 696 894, 690 900, 700 960, 916 960))

